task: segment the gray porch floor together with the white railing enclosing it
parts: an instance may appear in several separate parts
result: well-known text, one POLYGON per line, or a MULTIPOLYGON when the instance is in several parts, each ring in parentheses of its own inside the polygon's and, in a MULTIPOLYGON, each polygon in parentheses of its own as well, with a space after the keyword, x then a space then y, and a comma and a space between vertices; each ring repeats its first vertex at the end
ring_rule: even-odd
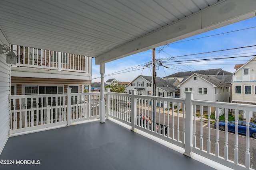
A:
MULTIPOLYGON (((198 160, 197 156, 202 156, 206 162, 218 165, 216 169, 255 169, 256 142, 250 137, 249 122, 250 113, 256 106, 194 100, 193 92, 186 92, 185 99, 177 99, 136 95, 136 90, 132 90, 132 94, 113 93, 109 89, 101 94, 71 93, 71 88, 67 91, 67 94, 10 96, 11 137, 1 160, 33 158, 40 160, 42 169, 58 166, 55 162, 60 161, 64 162, 60 166, 78 169, 82 166, 92 169, 105 166, 110 169, 131 169, 131 166, 133 169, 165 169, 171 166, 201 169, 205 166, 202 169, 211 169, 194 162, 193 159, 198 160), (163 107, 158 107, 157 103, 163 107), (210 124, 210 114, 214 112, 212 108, 216 110, 216 129, 210 124), (236 123, 238 111, 246 112, 246 136, 238 135, 238 123, 235 134, 228 133, 227 128, 224 132, 218 129, 219 108, 224 108, 226 127, 231 109, 234 110, 236 123), (205 110, 208 114, 206 120, 203 119, 205 110), (96 121, 85 123, 90 120, 96 121), (80 123, 83 124, 76 125, 80 123), (167 147, 151 139, 165 143, 167 147), (170 151, 168 147, 180 148, 180 152, 170 151), (184 161, 186 164, 182 163, 184 161)), ((38 169, 39 166, 26 167, 38 169)))

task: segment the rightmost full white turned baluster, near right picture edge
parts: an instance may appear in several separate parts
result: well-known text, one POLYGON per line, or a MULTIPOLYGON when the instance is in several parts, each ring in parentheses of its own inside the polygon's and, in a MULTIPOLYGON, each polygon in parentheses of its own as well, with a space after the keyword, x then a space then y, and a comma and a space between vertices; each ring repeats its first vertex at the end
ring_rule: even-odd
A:
POLYGON ((250 111, 246 111, 246 149, 245 168, 250 168, 250 111))

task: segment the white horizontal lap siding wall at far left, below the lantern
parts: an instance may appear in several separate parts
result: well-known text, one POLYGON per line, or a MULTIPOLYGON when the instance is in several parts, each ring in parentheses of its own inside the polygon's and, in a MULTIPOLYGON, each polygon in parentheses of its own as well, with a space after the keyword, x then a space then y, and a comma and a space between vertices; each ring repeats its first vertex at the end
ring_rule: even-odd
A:
POLYGON ((0 55, 0 153, 9 136, 9 94, 10 67, 6 64, 6 56, 0 55))

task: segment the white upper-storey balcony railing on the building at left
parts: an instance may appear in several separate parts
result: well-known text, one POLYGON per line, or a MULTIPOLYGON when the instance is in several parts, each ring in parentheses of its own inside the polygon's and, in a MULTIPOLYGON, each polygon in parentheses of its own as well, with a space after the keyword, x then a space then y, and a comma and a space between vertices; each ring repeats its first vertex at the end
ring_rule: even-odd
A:
POLYGON ((89 60, 84 55, 74 55, 46 49, 12 45, 17 55, 17 66, 45 68, 88 73, 89 60))

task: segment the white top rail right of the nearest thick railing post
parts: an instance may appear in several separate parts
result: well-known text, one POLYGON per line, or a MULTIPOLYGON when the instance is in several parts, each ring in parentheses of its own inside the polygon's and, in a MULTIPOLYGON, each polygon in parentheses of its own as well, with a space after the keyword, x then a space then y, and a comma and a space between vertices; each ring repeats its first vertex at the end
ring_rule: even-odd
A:
POLYGON ((220 107, 220 108, 227 108, 227 109, 256 111, 256 105, 250 105, 250 104, 210 102, 210 101, 204 101, 204 100, 192 100, 192 102, 194 105, 199 105, 199 106, 210 106, 210 107, 220 107))

